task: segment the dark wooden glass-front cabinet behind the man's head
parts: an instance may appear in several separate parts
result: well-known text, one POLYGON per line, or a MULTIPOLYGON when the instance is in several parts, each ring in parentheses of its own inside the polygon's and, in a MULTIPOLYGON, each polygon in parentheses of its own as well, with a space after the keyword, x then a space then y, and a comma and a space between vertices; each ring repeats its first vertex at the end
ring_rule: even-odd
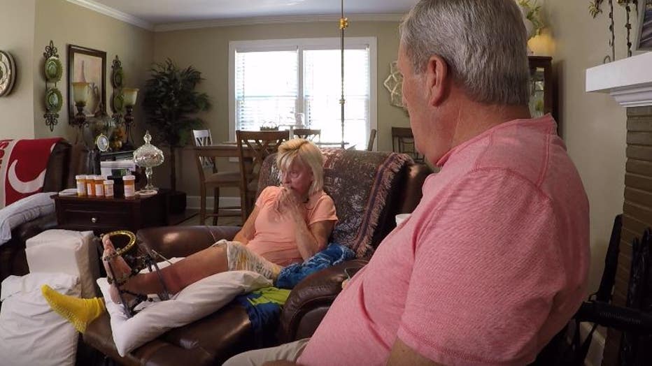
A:
POLYGON ((551 113, 559 123, 555 108, 555 85, 553 80, 552 57, 530 56, 530 114, 541 117, 551 113))

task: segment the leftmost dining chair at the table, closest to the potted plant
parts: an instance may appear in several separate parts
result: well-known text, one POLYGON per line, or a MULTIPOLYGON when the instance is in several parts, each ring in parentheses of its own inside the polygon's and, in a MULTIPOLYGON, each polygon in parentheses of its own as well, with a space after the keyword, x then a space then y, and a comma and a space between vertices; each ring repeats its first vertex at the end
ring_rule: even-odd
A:
MULTIPOLYGON (((194 145, 209 146, 213 145, 213 138, 210 130, 192 130, 194 145)), ((240 172, 226 171, 218 172, 217 164, 213 156, 202 156, 201 152, 195 150, 197 160, 197 170, 199 170, 199 224, 206 224, 206 217, 213 217, 213 225, 218 224, 218 217, 237 217, 241 216, 240 206, 222 207, 220 213, 220 188, 235 187, 240 188, 240 172), (206 191, 213 189, 213 213, 206 212, 206 191), (229 210, 229 212, 224 212, 229 210)))

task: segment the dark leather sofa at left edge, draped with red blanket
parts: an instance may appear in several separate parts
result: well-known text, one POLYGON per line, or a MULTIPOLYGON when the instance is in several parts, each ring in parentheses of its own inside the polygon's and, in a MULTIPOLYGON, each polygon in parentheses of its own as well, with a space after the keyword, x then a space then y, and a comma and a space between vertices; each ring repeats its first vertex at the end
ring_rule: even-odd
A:
MULTIPOLYGON (((43 192, 58 192, 75 186, 75 175, 92 171, 87 159, 88 149, 83 145, 71 145, 65 140, 52 148, 45 170, 43 192)), ((10 275, 29 273, 25 257, 25 242, 38 233, 57 226, 54 212, 28 221, 11 230, 11 239, 0 245, 0 282, 10 275)))

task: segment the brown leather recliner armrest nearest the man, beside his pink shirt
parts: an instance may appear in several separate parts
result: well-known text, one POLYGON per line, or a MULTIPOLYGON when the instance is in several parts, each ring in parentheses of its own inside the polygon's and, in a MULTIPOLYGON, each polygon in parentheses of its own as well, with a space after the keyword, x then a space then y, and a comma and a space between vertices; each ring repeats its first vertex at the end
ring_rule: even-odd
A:
POLYGON ((323 319, 325 312, 322 308, 329 307, 342 291, 342 282, 347 278, 344 270, 362 268, 367 263, 362 259, 346 261, 315 272, 299 282, 290 292, 281 312, 278 330, 281 342, 295 341, 299 339, 297 335, 311 335, 323 319))

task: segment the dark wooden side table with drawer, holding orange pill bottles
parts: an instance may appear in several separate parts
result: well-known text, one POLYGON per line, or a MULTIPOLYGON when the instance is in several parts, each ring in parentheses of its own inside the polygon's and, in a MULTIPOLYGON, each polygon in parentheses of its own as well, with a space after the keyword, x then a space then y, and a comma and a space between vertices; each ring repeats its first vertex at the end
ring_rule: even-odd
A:
POLYGON ((95 234, 113 230, 130 230, 166 225, 163 194, 150 197, 95 198, 55 195, 58 228, 93 230, 95 234))

